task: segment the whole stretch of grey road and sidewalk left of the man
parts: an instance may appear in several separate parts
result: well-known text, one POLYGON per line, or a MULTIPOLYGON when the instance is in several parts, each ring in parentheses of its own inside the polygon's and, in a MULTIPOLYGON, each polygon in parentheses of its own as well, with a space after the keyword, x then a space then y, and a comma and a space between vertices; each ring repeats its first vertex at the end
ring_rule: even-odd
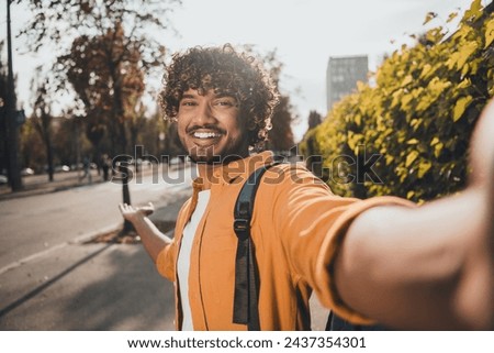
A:
MULTIPOLYGON (((133 203, 175 220, 190 194, 180 173, 134 179, 133 203)), ((85 243, 122 224, 121 195, 104 183, 0 201, 0 330, 175 329, 172 284, 141 244, 85 243)))

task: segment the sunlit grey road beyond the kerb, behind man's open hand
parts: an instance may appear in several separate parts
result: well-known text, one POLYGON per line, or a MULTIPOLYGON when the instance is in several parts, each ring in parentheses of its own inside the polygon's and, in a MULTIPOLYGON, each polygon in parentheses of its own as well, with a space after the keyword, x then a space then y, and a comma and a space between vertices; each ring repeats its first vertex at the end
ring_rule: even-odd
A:
MULTIPOLYGON (((134 205, 162 207, 189 192, 190 169, 148 170, 130 184, 134 205)), ((0 201, 0 274, 5 267, 122 223, 122 185, 100 183, 0 201)))

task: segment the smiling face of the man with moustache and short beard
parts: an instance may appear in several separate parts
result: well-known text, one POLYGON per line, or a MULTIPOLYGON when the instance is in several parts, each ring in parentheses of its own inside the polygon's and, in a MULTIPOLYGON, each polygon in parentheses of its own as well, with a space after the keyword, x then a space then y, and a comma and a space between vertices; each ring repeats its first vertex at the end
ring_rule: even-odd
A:
POLYGON ((189 89, 177 118, 180 141, 192 161, 213 163, 248 155, 246 124, 234 97, 189 89))

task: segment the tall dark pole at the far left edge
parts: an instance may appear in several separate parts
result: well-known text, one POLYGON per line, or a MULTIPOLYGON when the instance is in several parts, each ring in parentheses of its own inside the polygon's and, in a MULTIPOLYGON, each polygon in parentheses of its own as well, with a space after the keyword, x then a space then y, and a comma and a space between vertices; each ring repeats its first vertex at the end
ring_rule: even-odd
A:
POLYGON ((8 140, 8 165, 9 165, 9 184, 12 191, 22 189, 21 170, 19 167, 18 146, 19 146, 19 124, 16 122, 16 98, 12 68, 12 33, 10 29, 10 3, 7 0, 7 55, 8 55, 8 78, 7 78, 7 140, 8 140))

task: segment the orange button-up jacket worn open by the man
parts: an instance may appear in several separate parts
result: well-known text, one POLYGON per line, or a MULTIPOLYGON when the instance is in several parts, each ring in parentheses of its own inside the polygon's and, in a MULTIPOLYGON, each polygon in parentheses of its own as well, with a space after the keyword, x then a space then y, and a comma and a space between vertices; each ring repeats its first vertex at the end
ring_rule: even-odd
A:
MULTIPOLYGON (((248 176, 265 163, 269 152, 235 161, 215 170, 211 198, 192 245, 189 300, 194 330, 246 330, 232 322, 237 238, 233 209, 248 176)), ((157 268, 176 286, 176 326, 181 327, 176 263, 182 230, 193 211, 194 195, 182 207, 173 242, 158 255, 157 268)), ((262 177, 252 213, 251 238, 259 268, 259 320, 262 330, 310 330, 308 299, 314 289, 321 302, 355 323, 371 321, 339 299, 328 271, 350 221, 382 203, 406 201, 382 197, 341 198, 301 166, 279 165, 262 177)))

